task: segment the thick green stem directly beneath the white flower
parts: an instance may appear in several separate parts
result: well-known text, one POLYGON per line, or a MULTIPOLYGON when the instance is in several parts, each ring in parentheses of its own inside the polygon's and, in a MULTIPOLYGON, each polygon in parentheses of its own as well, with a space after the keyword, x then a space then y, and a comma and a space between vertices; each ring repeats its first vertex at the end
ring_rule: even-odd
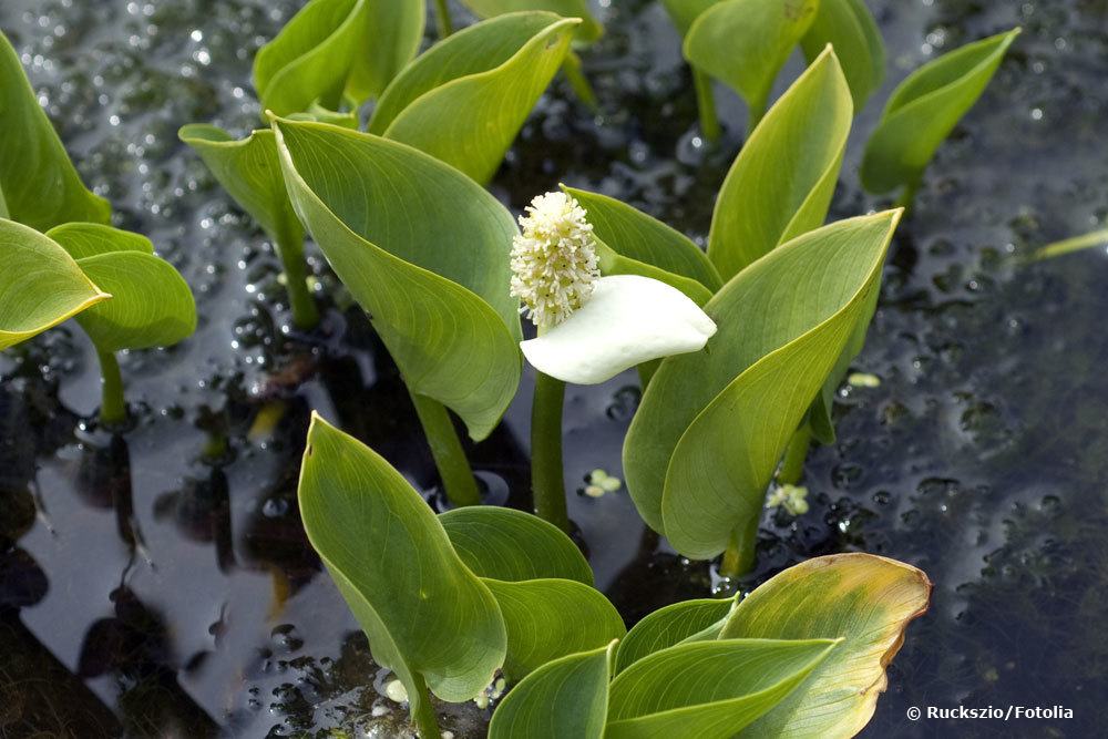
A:
POLYGON ((562 531, 570 531, 562 469, 562 403, 565 382, 538 372, 531 406, 531 490, 535 513, 562 531))

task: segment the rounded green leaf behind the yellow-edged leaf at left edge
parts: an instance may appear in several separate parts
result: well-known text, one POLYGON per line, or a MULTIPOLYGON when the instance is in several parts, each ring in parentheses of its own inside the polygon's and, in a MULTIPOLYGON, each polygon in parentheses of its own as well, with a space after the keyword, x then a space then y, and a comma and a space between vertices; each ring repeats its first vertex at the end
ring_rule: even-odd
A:
POLYGON ((188 284, 145 236, 98 224, 47 232, 111 300, 76 317, 100 351, 170 347, 196 330, 188 284))

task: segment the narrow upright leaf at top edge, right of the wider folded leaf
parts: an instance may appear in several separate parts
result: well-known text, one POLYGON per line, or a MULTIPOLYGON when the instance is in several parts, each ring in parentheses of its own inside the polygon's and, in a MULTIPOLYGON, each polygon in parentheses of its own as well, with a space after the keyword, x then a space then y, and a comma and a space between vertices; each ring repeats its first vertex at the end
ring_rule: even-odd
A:
POLYGON ((359 103, 379 97, 416 58, 425 21, 423 0, 371 0, 366 8, 365 35, 355 49, 347 95, 359 103))

